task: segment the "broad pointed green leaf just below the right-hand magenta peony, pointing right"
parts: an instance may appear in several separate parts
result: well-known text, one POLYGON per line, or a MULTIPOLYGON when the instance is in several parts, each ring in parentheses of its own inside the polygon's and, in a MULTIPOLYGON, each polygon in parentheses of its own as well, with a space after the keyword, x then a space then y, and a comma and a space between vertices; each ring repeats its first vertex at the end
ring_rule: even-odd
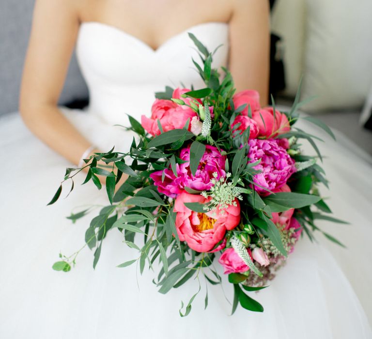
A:
MULTIPOLYGON (((321 200, 320 197, 311 194, 302 194, 302 193, 294 193, 294 192, 280 192, 275 194, 270 194, 263 201, 271 207, 271 203, 273 203, 273 207, 277 207, 278 205, 288 208, 301 208, 305 206, 312 205, 316 202, 321 200)), ((272 211, 274 211, 272 209, 272 211)))

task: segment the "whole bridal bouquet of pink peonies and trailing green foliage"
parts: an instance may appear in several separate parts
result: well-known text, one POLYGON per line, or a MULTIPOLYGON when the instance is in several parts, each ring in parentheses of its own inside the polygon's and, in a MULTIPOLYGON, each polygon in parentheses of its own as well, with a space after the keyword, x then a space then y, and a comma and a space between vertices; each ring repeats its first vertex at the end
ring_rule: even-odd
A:
MULTIPOLYGON (((247 292, 267 287, 302 233, 312 240, 313 232, 321 231, 316 219, 339 221, 327 215, 331 211, 318 191, 319 183, 327 185, 317 164, 322 156, 313 139, 318 138, 295 125, 302 105, 298 94, 289 112, 262 108, 258 92, 236 93, 229 71, 222 68, 222 77, 211 67, 214 53, 189 36, 200 52, 202 62, 193 63, 205 88, 166 87, 155 94, 150 117, 142 116, 140 123, 129 116, 127 129, 138 138, 128 152, 113 148, 84 160, 89 170, 83 184, 92 180, 101 189, 97 175, 106 176, 109 200, 90 222, 86 246, 95 248, 95 267, 107 232, 117 229, 137 253, 118 267, 138 263, 141 273, 145 266, 158 269, 154 282, 160 293, 191 278, 219 284, 215 265, 222 265, 233 284, 233 312, 238 304, 262 312, 247 292), (316 156, 301 153, 303 139, 316 156), (128 177, 114 193, 123 174, 128 177)), ((334 138, 324 123, 302 119, 334 138)), ((67 169, 64 181, 74 183, 81 170, 67 169)), ((50 203, 61 191, 62 185, 50 203)), ((89 211, 68 218, 75 221, 89 211)), ((53 268, 69 271, 78 253, 60 254, 53 268)), ((185 310, 182 303, 181 316, 190 312, 195 295, 185 310)), ((205 307, 207 301, 206 296, 205 307)))

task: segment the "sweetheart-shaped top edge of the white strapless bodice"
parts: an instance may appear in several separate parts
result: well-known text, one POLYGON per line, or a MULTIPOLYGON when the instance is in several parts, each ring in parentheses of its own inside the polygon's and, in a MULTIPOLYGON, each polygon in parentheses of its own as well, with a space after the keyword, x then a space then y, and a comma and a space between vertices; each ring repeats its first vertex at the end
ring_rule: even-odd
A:
POLYGON ((176 33, 174 35, 172 35, 170 38, 166 39, 162 44, 160 44, 156 49, 154 49, 153 47, 151 47, 149 44, 147 44, 146 42, 144 42, 143 40, 141 40, 139 37, 133 35, 133 34, 130 34, 114 25, 110 25, 110 24, 107 24, 107 23, 104 23, 104 22, 100 22, 100 21, 83 21, 80 26, 83 26, 83 25, 89 25, 89 24, 94 24, 94 25, 101 25, 102 27, 106 27, 106 28, 109 28, 111 29, 112 31, 116 31, 122 35, 126 35, 127 37, 131 38, 133 41, 137 41, 138 43, 140 43, 142 46, 146 47, 149 51, 151 51, 152 53, 156 54, 159 50, 161 50, 164 46, 167 46, 172 40, 182 36, 183 34, 185 34, 186 32, 188 31, 191 31, 191 30, 195 30, 196 28, 198 27, 202 27, 202 26, 206 26, 206 25, 211 25, 211 24, 214 24, 214 25, 226 25, 228 26, 229 24, 227 22, 222 22, 222 21, 209 21, 209 22, 203 22, 203 23, 200 23, 200 24, 196 24, 196 25, 193 25, 189 28, 186 28, 186 30, 183 30, 179 33, 176 33))

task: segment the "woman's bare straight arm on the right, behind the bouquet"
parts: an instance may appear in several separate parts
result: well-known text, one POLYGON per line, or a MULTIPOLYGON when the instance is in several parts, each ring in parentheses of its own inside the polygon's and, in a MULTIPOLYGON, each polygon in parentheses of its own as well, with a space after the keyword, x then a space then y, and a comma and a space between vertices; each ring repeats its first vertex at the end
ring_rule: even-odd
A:
POLYGON ((267 105, 270 63, 268 0, 234 0, 230 19, 229 69, 237 91, 255 89, 267 105))

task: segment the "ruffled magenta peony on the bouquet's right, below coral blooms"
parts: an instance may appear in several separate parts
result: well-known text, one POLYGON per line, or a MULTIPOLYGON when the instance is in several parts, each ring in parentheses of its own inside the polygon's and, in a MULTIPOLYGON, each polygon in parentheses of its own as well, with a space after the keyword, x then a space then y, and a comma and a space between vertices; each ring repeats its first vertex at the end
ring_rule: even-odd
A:
MULTIPOLYGON (((294 160, 283 147, 279 146, 278 140, 250 139, 248 145, 249 162, 261 159, 261 163, 253 167, 255 170, 261 170, 261 173, 255 174, 253 177, 256 184, 273 191, 285 185, 289 177, 296 171, 294 160)), ((260 195, 270 194, 260 186, 254 186, 260 195)))

